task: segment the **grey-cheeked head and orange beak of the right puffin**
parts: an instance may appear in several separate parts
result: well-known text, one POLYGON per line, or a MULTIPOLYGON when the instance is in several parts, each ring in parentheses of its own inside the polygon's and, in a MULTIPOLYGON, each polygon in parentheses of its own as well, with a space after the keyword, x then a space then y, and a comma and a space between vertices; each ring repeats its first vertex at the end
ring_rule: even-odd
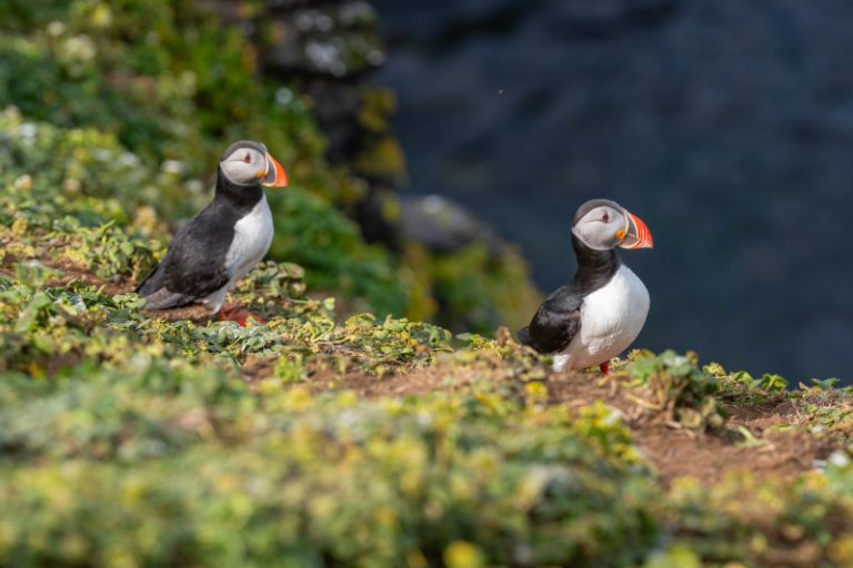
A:
POLYGON ((574 214, 572 233, 583 244, 596 251, 614 246, 651 248, 652 233, 636 215, 610 200, 591 200, 574 214))

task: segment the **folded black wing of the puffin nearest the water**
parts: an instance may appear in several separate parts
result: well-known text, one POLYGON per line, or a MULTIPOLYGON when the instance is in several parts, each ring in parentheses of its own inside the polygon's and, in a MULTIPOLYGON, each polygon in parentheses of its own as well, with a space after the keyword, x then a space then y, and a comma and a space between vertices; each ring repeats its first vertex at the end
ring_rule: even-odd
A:
POLYGON ((519 339, 540 353, 563 351, 581 328, 583 297, 560 288, 539 306, 528 327, 519 331, 519 339))

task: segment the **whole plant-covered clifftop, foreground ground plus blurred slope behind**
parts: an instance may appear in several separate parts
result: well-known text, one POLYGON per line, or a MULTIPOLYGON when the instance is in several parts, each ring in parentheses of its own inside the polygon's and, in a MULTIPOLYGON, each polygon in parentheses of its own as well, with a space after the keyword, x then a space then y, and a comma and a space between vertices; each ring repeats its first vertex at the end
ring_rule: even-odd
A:
POLYGON ((853 565, 851 388, 453 336, 432 293, 493 326, 523 264, 364 244, 235 31, 134 0, 9 0, 0 30, 0 566, 853 565), (298 180, 230 297, 267 323, 153 317, 133 285, 231 138, 298 180))

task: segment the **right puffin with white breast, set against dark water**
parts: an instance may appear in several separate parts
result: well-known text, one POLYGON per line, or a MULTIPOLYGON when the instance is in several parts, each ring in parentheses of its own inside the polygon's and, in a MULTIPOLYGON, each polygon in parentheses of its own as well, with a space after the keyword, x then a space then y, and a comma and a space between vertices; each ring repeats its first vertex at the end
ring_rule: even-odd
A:
POLYGON ((553 369, 598 365, 606 375, 609 362, 633 343, 649 314, 649 291, 615 248, 651 248, 649 227, 619 203, 591 200, 578 209, 572 247, 578 270, 539 306, 521 343, 553 354, 553 369))

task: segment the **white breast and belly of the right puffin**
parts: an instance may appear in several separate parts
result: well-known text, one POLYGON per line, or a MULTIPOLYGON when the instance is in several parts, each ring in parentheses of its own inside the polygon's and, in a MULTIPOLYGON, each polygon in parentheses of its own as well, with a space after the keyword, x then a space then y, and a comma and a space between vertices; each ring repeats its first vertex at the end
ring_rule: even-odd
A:
POLYGON ((640 335, 649 304, 645 285, 622 264, 610 282, 584 296, 581 328, 554 358, 555 367, 591 367, 625 351, 640 335))

